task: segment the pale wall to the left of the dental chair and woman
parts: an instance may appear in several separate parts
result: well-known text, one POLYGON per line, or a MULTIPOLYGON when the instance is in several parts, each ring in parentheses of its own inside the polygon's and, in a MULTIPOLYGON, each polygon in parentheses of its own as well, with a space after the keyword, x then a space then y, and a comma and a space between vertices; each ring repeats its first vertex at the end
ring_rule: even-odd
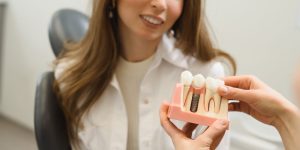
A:
POLYGON ((54 59, 48 41, 51 15, 64 7, 87 12, 88 0, 7 0, 1 113, 33 129, 35 85, 54 59))

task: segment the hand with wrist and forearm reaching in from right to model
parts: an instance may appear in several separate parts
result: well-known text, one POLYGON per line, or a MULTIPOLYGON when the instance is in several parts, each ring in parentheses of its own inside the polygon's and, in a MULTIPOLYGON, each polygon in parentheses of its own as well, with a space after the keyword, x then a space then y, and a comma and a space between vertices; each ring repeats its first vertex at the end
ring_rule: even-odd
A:
POLYGON ((245 112, 255 119, 276 127, 287 150, 300 149, 300 112, 286 98, 253 76, 225 77, 219 94, 239 100, 229 110, 245 112))

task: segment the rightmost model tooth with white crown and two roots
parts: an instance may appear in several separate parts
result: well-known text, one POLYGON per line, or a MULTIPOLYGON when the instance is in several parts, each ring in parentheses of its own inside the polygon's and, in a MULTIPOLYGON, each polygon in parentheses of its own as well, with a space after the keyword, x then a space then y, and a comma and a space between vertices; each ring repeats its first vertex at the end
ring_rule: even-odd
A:
POLYGON ((207 112, 219 113, 221 106, 221 96, 217 93, 218 86, 224 84, 224 81, 207 77, 206 93, 204 99, 204 109, 207 112), (212 105, 214 107, 212 107, 212 105), (211 110, 214 108, 214 110, 211 110))

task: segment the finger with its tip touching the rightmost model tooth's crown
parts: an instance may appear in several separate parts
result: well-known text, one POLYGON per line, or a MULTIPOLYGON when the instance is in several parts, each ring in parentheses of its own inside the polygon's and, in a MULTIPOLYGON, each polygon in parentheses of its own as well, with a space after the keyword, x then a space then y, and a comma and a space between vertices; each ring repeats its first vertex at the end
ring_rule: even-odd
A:
POLYGON ((239 100, 248 104, 253 103, 256 97, 255 93, 251 90, 244 90, 229 86, 218 87, 218 93, 226 99, 239 100))

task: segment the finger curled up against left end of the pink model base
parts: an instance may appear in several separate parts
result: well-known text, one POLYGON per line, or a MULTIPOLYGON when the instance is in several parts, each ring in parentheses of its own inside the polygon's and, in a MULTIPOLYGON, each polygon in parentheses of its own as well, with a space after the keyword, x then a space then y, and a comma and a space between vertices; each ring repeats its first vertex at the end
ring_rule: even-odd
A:
POLYGON ((169 104, 163 103, 160 107, 160 123, 167 134, 173 138, 176 135, 184 135, 168 118, 169 104))

